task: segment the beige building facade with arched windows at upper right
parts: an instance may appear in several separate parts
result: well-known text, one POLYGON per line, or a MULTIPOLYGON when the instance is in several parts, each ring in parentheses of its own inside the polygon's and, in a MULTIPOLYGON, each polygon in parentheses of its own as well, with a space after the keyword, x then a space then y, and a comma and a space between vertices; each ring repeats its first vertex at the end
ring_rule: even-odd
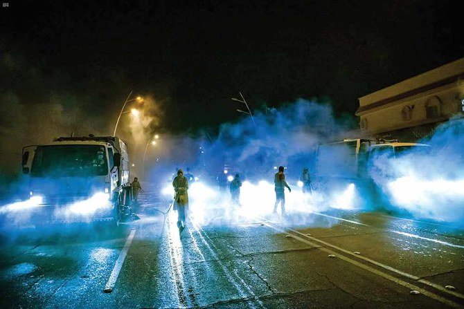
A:
POLYGON ((464 116, 464 58, 359 98, 359 127, 371 138, 413 142, 464 116))

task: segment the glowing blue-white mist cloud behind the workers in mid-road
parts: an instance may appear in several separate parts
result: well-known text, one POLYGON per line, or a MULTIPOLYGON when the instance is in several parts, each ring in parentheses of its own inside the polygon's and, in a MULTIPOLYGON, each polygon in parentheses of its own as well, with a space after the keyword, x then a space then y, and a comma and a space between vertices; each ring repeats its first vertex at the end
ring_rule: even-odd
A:
MULTIPOLYGON (((235 172, 243 175, 242 207, 232 212, 229 194, 221 194, 214 181, 200 180, 189 189, 190 211, 195 215, 195 221, 217 223, 219 218, 206 214, 211 209, 223 209, 218 213, 230 220, 237 219, 233 215, 246 221, 269 214, 275 202, 274 167, 285 165, 287 182, 296 187, 301 168, 308 166, 310 171, 314 169, 316 145, 352 129, 350 124, 355 123, 351 118, 335 118, 330 104, 307 100, 298 100, 273 114, 255 112, 253 115, 256 128, 249 118, 222 124, 217 138, 211 142, 202 140, 204 153, 200 153, 207 154, 204 169, 214 176, 224 174, 224 165, 229 165, 230 170, 226 169, 228 175, 235 172)), ((340 199, 337 194, 323 196, 320 191, 315 191, 307 196, 301 190, 292 190, 286 196, 287 205, 301 212, 323 211, 328 207, 351 209, 356 207, 350 200, 355 191, 353 185, 343 188, 339 192, 343 195, 340 199)), ((166 183, 163 193, 164 196, 172 196, 170 183, 166 183)))

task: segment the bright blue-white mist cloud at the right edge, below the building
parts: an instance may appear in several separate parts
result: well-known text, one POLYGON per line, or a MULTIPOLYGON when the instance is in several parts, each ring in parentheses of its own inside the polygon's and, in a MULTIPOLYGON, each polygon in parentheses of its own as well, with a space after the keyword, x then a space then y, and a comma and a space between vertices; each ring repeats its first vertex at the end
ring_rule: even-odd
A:
POLYGON ((416 218, 462 223, 464 219, 464 120, 452 119, 393 160, 376 158, 370 174, 393 209, 416 218))

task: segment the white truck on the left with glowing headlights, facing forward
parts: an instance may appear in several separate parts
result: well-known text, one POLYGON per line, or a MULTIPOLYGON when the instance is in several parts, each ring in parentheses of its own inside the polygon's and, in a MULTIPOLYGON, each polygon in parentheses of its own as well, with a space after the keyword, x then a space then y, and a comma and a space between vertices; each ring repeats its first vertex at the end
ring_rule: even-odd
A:
POLYGON ((130 211, 127 145, 118 137, 55 138, 23 148, 32 223, 111 221, 130 211))

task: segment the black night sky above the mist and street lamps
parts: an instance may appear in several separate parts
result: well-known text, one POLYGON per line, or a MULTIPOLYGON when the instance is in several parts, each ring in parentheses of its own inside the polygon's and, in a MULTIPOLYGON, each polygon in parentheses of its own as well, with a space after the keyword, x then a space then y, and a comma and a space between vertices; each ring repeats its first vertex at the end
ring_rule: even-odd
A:
POLYGON ((93 115, 117 115, 134 90, 162 102, 175 133, 242 117, 238 91, 254 109, 317 97, 353 114, 358 97, 464 57, 456 5, 9 0, 1 90, 26 106, 64 93, 93 115))

